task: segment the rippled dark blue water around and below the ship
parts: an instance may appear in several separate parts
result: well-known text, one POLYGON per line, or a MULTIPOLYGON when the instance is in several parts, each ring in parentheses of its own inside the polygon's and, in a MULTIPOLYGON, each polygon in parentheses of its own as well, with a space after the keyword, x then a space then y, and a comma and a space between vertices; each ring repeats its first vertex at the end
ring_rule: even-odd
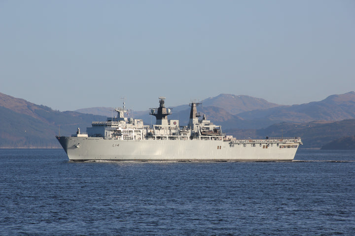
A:
POLYGON ((355 235, 355 151, 293 162, 84 162, 0 150, 0 235, 355 235))

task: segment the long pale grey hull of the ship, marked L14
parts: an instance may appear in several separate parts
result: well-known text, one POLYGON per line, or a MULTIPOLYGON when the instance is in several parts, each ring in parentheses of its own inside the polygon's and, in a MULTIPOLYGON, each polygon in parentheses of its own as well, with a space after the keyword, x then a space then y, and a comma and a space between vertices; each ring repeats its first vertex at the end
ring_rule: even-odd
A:
POLYGON ((57 137, 72 161, 292 161, 299 143, 232 144, 223 140, 107 140, 57 137))

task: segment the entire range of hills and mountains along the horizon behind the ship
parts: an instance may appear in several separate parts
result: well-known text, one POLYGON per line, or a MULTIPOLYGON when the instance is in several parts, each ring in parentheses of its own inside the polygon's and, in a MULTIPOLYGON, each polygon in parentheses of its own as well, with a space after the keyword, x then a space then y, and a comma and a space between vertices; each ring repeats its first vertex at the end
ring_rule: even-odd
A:
MULTIPOLYGON (((158 106, 158 99, 155 105, 152 107, 158 106)), ((166 105, 169 107, 168 100, 166 105)), ((108 111, 110 117, 111 108, 103 109, 108 111)), ((93 109, 85 111, 91 112, 93 109)), ((100 109, 96 111, 101 114, 100 109)), ((320 148, 334 139, 355 133, 355 92, 331 95, 319 102, 293 106, 268 103, 249 96, 220 94, 205 99, 198 111, 206 114, 213 123, 221 124, 227 135, 233 134, 237 138, 301 136, 304 148, 320 148), (250 111, 260 107, 265 109, 250 111), (232 114, 239 111, 243 112, 232 114), (314 121, 316 119, 324 121, 314 121)), ((189 106, 181 105, 173 107, 173 114, 169 118, 180 119, 180 125, 186 125, 189 113, 189 106)), ((143 118, 145 124, 155 123, 155 118, 148 115, 148 110, 134 111, 130 115, 143 118)), ((80 127, 85 132, 92 121, 104 121, 106 116, 54 111, 0 93, 0 119, 0 148, 59 148, 55 139, 59 131, 61 135, 71 135, 80 127)))

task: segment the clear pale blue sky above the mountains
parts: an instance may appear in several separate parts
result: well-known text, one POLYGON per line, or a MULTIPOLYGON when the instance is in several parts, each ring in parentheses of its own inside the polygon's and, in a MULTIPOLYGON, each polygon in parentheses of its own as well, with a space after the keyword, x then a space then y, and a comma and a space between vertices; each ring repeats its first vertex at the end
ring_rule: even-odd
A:
POLYGON ((354 0, 0 0, 0 92, 56 110, 352 90, 354 0))

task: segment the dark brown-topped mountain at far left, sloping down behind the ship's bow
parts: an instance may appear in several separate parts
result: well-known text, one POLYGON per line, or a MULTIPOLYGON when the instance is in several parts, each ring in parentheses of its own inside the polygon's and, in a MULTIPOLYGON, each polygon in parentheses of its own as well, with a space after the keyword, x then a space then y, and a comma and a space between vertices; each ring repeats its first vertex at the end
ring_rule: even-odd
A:
POLYGON ((106 117, 54 111, 0 93, 0 148, 60 148, 55 135, 86 130, 93 120, 106 117))

